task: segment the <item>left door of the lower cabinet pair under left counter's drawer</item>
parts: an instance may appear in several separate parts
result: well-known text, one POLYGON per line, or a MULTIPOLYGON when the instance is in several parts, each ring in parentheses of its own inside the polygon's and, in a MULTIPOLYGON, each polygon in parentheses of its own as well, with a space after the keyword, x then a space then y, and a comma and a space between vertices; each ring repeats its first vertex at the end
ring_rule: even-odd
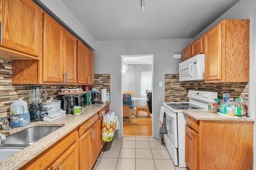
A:
POLYGON ((92 131, 89 129, 80 137, 79 139, 79 168, 81 170, 89 170, 90 163, 90 155, 91 155, 91 137, 92 131))

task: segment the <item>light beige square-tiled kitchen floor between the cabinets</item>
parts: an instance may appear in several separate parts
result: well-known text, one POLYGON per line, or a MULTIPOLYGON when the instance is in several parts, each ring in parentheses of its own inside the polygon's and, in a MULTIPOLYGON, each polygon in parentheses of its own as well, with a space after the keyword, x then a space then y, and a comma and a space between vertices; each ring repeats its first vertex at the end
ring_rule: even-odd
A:
POLYGON ((93 170, 189 170, 174 166, 161 139, 123 137, 106 142, 93 170))

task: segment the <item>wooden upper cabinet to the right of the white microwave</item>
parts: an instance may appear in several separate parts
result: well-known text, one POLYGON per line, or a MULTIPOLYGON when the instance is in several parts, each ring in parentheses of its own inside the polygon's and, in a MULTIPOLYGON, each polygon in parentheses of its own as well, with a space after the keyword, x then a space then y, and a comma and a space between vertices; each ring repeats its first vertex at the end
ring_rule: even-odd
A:
POLYGON ((249 82, 250 20, 223 20, 204 35, 205 82, 249 82))

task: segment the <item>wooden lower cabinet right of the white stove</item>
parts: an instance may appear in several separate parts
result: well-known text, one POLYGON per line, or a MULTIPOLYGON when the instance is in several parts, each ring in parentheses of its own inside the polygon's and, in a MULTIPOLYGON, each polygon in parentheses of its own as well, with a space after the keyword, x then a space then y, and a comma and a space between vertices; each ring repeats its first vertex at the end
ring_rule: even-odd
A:
POLYGON ((201 120, 198 133, 191 127, 194 121, 186 115, 185 162, 190 170, 253 169, 253 121, 201 120))

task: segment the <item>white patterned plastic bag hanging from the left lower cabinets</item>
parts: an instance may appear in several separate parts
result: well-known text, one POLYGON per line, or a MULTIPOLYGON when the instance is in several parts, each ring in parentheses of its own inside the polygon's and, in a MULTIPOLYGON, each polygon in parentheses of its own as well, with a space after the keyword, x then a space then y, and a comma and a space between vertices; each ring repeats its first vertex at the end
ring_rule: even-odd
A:
MULTIPOLYGON (((102 141, 110 142, 114 137, 118 119, 114 112, 109 114, 102 113, 102 115, 102 141)), ((118 128, 120 128, 119 126, 120 125, 118 121, 118 128)))

